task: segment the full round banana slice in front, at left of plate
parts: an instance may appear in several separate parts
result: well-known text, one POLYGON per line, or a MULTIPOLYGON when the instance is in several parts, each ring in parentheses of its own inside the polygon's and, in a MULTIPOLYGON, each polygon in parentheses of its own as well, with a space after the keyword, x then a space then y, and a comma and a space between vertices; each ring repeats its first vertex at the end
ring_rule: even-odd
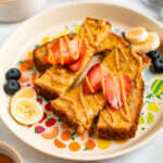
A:
POLYGON ((34 99, 18 98, 11 106, 11 115, 23 125, 33 125, 42 118, 43 109, 34 99))

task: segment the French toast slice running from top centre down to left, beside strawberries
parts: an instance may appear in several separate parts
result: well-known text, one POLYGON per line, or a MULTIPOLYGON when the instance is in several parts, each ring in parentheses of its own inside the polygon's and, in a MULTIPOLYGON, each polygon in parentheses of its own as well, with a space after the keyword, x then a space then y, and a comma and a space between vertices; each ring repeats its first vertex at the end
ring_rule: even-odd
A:
POLYGON ((96 53, 97 47, 104 40, 111 29, 111 24, 102 20, 87 17, 80 30, 74 39, 83 39, 86 42, 86 53, 82 67, 73 72, 65 66, 51 66, 35 82, 39 95, 47 99, 54 99, 63 95, 72 86, 86 68, 87 64, 96 53))

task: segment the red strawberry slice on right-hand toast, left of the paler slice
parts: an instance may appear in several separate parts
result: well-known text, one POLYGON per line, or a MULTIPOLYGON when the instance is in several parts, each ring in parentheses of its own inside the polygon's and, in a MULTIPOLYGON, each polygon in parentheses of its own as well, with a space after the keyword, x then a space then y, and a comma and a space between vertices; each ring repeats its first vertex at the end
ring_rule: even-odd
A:
MULTIPOLYGON (((87 73, 88 80, 93 89, 93 91, 98 91, 102 88, 101 85, 101 71, 100 71, 100 63, 97 63, 93 65, 89 72, 87 73)), ((92 93, 89 85, 85 80, 85 86, 84 86, 84 92, 85 93, 92 93)))

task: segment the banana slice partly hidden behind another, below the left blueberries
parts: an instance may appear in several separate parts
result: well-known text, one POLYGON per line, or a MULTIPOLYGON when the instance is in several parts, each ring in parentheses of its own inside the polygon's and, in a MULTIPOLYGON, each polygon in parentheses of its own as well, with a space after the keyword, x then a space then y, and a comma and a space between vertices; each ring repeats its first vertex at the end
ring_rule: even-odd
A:
POLYGON ((14 101, 20 98, 27 98, 27 99, 36 100, 37 93, 36 93, 35 89, 33 89, 32 87, 24 87, 12 97, 10 104, 12 105, 14 103, 14 101))

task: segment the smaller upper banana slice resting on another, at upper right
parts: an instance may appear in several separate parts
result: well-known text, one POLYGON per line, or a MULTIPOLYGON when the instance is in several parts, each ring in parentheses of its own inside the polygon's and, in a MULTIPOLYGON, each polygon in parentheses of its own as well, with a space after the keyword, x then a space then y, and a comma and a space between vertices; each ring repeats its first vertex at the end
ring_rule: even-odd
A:
POLYGON ((140 43, 148 38, 148 32, 143 27, 134 27, 126 32, 125 37, 130 43, 140 43))

